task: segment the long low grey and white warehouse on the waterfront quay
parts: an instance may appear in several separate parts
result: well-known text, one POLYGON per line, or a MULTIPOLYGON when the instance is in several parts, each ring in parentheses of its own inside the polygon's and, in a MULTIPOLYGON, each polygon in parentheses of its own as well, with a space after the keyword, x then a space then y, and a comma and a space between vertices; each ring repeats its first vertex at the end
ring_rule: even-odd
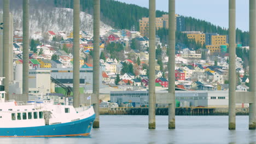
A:
MULTIPOLYGON (((167 91, 156 91, 156 93, 167 93, 167 91)), ((161 97, 161 94, 156 94, 161 97)), ((189 101, 190 107, 228 107, 229 92, 228 91, 176 91, 176 101, 180 103, 189 101)), ((110 92, 110 101, 122 105, 124 103, 132 103, 135 107, 148 105, 148 91, 120 91, 110 92)), ((248 104, 237 104, 237 107, 248 104)))

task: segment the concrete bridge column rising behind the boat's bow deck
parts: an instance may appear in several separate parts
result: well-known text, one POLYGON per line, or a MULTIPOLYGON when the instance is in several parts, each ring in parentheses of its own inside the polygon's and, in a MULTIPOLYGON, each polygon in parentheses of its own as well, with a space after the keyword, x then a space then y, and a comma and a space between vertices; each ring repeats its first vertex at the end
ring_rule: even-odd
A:
POLYGON ((79 107, 79 58, 80 58, 80 1, 74 0, 74 13, 73 13, 73 37, 74 37, 74 46, 73 46, 73 106, 79 107))

